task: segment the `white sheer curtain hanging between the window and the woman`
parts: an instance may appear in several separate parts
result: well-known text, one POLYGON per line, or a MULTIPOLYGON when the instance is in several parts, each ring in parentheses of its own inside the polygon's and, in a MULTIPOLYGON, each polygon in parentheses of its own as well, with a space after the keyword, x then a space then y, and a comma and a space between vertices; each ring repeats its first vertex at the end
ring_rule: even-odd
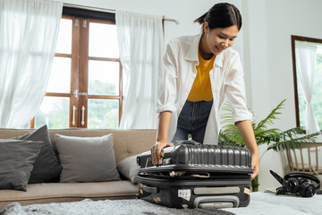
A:
POLYGON ((116 12, 124 86, 120 128, 157 128, 157 76, 162 69, 162 17, 116 12))

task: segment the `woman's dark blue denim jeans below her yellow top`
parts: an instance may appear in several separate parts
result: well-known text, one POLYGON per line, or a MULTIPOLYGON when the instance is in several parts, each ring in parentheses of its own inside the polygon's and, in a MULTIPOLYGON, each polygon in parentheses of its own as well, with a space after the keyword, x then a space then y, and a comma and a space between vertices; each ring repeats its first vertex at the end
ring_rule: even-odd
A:
POLYGON ((212 104, 213 100, 197 102, 187 100, 184 103, 172 141, 174 145, 182 140, 188 140, 189 133, 193 141, 203 143, 212 104))

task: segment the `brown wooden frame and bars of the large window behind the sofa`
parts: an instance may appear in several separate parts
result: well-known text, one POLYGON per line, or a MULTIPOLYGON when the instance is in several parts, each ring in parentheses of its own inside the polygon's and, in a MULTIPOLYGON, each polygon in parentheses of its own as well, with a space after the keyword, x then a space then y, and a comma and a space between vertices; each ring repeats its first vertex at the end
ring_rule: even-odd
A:
MULTIPOLYGON (((71 64, 71 89, 69 93, 47 92, 47 97, 69 98, 69 127, 88 127, 88 108, 84 112, 84 125, 81 125, 80 107, 88 107, 89 99, 114 99, 119 102, 118 125, 120 125, 123 113, 123 67, 119 58, 89 56, 89 23, 97 22, 103 24, 115 24, 114 13, 94 12, 79 8, 63 8, 62 19, 72 20, 72 54, 55 53, 56 57, 70 57, 71 64), (75 22, 78 22, 78 26, 75 22), (87 26, 84 28, 83 22, 86 19, 87 26), (82 46, 80 46, 82 41, 82 46), (85 41, 85 44, 83 43, 85 41), (118 95, 89 95, 89 60, 118 62, 119 63, 119 89, 118 95), (86 95, 75 97, 73 92, 86 92, 86 95), (76 124, 72 125, 73 106, 77 107, 75 111, 76 124)), ((35 117, 30 121, 30 128, 35 128, 35 117)))

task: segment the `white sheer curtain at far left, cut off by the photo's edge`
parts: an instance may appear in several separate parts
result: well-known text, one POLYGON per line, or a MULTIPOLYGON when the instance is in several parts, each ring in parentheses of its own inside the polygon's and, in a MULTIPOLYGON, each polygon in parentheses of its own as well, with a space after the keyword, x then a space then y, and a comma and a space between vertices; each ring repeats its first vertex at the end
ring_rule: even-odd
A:
POLYGON ((44 99, 63 3, 0 0, 0 127, 26 125, 44 99))

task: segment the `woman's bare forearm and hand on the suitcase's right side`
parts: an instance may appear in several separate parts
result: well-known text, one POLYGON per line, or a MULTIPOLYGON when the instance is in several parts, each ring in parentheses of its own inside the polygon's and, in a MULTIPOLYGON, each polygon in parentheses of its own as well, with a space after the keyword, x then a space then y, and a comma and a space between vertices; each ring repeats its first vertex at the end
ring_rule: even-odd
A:
POLYGON ((253 174, 251 174, 250 177, 253 179, 259 172, 259 152, 254 131, 250 120, 236 122, 236 125, 242 135, 242 140, 246 143, 246 146, 251 153, 251 168, 253 169, 253 174))

